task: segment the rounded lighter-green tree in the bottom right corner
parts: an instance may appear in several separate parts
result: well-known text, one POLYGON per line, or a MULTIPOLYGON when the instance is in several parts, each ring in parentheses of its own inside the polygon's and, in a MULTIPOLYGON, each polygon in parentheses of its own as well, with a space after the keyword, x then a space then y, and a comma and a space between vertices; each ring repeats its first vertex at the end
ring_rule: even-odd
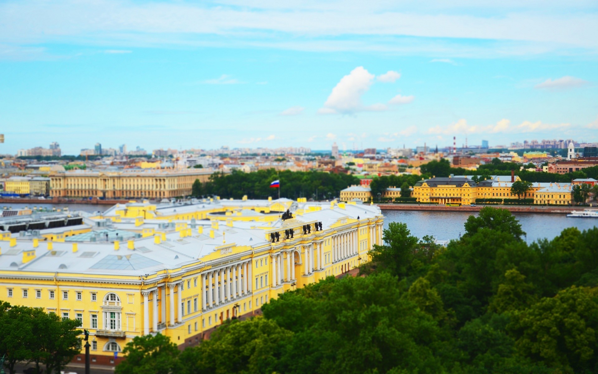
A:
POLYGON ((513 314, 508 329, 519 355, 581 372, 598 363, 598 304, 590 291, 570 287, 513 314))

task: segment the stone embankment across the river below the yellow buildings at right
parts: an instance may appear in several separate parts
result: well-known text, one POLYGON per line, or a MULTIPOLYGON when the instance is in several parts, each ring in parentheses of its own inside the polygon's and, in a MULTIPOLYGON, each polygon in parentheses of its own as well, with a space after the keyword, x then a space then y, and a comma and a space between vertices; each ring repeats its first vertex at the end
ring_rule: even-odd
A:
POLYGON ((515 206, 515 205, 478 205, 478 206, 446 206, 446 205, 417 205, 417 204, 376 204, 387 211, 440 211, 440 212, 478 212, 484 206, 507 209, 514 213, 544 213, 563 214, 587 209, 584 206, 515 206))

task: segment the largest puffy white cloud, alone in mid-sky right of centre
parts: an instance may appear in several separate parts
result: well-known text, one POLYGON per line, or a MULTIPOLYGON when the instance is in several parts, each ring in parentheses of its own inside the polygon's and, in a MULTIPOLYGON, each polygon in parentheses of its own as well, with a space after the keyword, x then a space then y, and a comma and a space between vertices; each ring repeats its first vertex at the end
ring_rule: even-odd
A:
POLYGON ((386 110, 384 104, 364 106, 361 103, 361 96, 364 95, 372 83, 374 74, 370 74, 363 66, 353 69, 345 75, 332 89, 324 107, 320 108, 320 114, 353 114, 358 111, 382 111, 386 110))

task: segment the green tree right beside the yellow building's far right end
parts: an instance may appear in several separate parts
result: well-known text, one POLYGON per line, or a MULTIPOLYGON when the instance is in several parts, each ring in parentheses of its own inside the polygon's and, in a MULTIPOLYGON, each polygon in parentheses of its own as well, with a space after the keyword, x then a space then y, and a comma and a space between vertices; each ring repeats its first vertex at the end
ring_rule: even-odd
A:
POLYGON ((393 275, 407 275, 419 240, 411 235, 407 224, 401 222, 389 223, 382 239, 386 245, 374 244, 369 252, 372 262, 393 275))

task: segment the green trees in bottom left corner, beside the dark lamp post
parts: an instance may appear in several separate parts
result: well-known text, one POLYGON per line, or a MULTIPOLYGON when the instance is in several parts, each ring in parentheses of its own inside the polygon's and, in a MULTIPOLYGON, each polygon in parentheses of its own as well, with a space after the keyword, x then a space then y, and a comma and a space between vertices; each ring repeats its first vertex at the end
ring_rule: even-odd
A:
POLYGON ((34 363, 38 373, 59 374, 81 349, 80 321, 46 313, 43 308, 0 301, 0 353, 14 374, 19 361, 34 363))

